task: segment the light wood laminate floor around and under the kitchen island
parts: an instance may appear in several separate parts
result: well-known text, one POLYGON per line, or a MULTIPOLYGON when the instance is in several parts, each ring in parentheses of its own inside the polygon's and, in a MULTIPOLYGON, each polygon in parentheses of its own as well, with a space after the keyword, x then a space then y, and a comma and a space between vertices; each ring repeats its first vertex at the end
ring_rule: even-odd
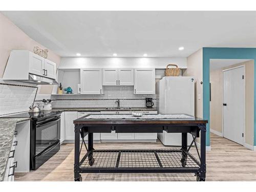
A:
MULTIPOLYGON (((210 135, 211 151, 206 154, 206 181, 256 181, 256 152, 215 134, 210 135)), ((163 148, 156 143, 95 143, 96 149, 163 148)), ((195 147, 191 153, 196 156, 195 147)), ((60 151, 37 170, 15 174, 16 181, 74 181, 74 144, 60 151)), ((195 181, 194 174, 81 174, 83 181, 195 181)))

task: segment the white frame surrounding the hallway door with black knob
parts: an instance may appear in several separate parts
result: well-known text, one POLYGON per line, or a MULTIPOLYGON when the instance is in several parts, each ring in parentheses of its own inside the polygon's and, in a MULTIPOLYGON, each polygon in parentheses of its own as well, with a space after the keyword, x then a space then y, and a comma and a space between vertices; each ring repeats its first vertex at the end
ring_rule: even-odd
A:
MULTIPOLYGON (((228 68, 228 69, 225 69, 225 70, 222 70, 223 72, 223 95, 222 95, 222 101, 224 102, 224 72, 225 71, 230 71, 230 70, 234 70, 234 69, 239 69, 239 68, 243 68, 243 72, 244 72, 244 81, 243 81, 243 87, 244 87, 244 102, 243 102, 243 105, 244 105, 244 114, 243 114, 243 118, 244 118, 244 138, 243 138, 243 146, 245 146, 245 81, 246 81, 246 76, 245 76, 245 65, 241 65, 241 66, 236 66, 236 67, 232 67, 232 68, 228 68)), ((224 106, 222 105, 222 137, 224 137, 224 106)), ((235 141, 233 141, 235 142, 235 141)))

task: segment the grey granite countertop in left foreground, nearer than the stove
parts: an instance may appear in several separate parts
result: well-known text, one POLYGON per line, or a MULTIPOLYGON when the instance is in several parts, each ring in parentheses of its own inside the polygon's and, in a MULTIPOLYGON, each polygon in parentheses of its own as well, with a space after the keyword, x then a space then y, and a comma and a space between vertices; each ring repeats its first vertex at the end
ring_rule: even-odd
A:
POLYGON ((0 181, 4 180, 6 165, 11 151, 16 123, 30 118, 1 118, 0 119, 0 181))

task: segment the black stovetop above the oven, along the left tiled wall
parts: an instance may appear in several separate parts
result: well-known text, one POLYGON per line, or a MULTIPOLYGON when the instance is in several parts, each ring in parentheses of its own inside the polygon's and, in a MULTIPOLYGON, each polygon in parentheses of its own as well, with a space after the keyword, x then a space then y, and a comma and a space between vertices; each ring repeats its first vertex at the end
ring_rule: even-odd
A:
POLYGON ((8 116, 1 116, 0 118, 32 118, 35 120, 47 119, 54 116, 59 116, 61 111, 41 111, 40 113, 17 113, 8 116))

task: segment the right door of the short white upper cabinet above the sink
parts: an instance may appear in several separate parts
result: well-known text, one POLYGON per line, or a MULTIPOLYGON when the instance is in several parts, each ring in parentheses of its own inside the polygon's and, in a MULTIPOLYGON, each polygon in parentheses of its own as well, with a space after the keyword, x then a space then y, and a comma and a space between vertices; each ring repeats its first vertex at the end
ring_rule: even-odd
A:
POLYGON ((118 69, 118 84, 120 86, 134 85, 134 69, 121 68, 118 69))

